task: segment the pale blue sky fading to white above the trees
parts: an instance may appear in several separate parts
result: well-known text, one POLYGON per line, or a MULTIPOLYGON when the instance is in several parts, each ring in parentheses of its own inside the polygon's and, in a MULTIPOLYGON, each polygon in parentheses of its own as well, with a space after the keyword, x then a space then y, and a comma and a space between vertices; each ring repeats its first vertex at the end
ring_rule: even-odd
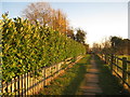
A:
MULTIPOLYGON (((37 0, 32 0, 37 1, 37 0)), ((4 0, 0 2, 0 14, 9 11, 9 17, 22 16, 22 11, 29 4, 27 0, 4 0)), ((109 36, 128 38, 127 0, 88 0, 50 1, 53 9, 61 9, 67 14, 69 25, 87 32, 86 42, 92 45, 109 36)))

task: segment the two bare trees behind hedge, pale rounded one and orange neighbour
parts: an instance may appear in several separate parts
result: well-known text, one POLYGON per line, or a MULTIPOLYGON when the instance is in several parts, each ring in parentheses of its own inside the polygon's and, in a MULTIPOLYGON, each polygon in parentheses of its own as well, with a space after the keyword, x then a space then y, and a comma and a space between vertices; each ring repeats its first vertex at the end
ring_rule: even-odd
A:
POLYGON ((24 11, 23 16, 32 24, 37 22, 40 25, 50 26, 61 33, 66 33, 68 28, 67 16, 61 10, 54 10, 47 2, 30 3, 24 11))

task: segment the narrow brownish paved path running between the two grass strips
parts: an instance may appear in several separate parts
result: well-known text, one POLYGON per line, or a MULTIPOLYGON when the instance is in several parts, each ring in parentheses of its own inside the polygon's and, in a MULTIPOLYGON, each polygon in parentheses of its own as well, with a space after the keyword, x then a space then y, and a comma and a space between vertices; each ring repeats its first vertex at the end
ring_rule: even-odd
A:
POLYGON ((99 69, 94 61, 94 56, 92 56, 90 64, 79 92, 81 92, 82 95, 102 94, 102 89, 99 86, 99 69))

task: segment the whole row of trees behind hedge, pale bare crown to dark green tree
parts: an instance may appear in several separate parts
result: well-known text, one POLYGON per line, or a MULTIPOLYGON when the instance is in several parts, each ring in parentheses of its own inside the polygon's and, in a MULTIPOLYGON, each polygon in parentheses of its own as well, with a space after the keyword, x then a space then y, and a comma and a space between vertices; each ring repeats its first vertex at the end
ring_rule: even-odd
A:
POLYGON ((39 25, 49 26, 53 30, 58 31, 62 34, 66 34, 75 41, 83 44, 86 43, 86 31, 81 28, 74 29, 70 27, 67 15, 60 9, 53 9, 48 2, 30 3, 23 11, 22 16, 28 18, 34 25, 38 22, 39 25), (75 30, 76 34, 74 33, 75 30))

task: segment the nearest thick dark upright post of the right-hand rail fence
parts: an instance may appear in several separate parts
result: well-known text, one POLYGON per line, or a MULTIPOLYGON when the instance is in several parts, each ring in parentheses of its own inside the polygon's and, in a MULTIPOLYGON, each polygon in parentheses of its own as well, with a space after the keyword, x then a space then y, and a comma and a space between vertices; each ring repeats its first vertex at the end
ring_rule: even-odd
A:
POLYGON ((122 84, 125 84, 125 81, 127 80, 127 57, 122 57, 122 84))

